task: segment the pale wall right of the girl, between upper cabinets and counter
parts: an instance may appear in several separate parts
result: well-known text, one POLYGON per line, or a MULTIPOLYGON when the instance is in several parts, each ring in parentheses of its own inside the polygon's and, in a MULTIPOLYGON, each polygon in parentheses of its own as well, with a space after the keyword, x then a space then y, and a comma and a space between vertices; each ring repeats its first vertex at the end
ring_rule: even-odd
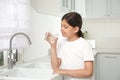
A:
POLYGON ((83 30, 96 40, 97 49, 120 49, 120 19, 84 20, 83 30))

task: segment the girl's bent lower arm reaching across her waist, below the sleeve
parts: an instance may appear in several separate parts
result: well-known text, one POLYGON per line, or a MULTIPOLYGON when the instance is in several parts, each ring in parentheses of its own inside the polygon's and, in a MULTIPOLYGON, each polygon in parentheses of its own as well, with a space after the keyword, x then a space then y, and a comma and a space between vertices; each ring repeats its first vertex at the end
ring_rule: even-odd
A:
POLYGON ((93 74, 93 61, 85 61, 85 69, 64 70, 58 69, 55 73, 68 75, 72 77, 87 78, 93 74))

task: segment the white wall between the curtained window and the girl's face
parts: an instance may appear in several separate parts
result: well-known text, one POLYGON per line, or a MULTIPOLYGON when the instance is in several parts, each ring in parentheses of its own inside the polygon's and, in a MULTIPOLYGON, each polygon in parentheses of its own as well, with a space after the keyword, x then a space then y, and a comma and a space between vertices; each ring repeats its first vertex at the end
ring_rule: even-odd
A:
POLYGON ((31 9, 31 41, 32 45, 24 50, 25 61, 48 54, 49 44, 44 40, 45 32, 56 34, 60 29, 60 18, 36 13, 31 9))

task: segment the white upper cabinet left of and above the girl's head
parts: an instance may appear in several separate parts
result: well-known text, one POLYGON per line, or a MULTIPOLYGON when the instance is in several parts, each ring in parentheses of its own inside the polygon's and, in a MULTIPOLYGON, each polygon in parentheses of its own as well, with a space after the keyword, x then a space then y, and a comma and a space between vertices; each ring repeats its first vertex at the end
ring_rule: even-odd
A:
POLYGON ((74 0, 31 0, 31 6, 38 12, 62 16, 74 10, 74 0))

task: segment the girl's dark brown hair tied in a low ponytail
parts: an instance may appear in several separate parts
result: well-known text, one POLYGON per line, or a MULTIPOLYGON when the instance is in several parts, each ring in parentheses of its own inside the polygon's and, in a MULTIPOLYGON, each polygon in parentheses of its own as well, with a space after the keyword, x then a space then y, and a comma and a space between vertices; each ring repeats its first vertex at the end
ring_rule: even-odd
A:
POLYGON ((77 12, 69 12, 65 14, 61 20, 66 20, 66 22, 71 25, 72 27, 79 27, 79 31, 77 32, 77 35, 79 37, 83 37, 83 33, 81 31, 82 28, 82 17, 77 12))

